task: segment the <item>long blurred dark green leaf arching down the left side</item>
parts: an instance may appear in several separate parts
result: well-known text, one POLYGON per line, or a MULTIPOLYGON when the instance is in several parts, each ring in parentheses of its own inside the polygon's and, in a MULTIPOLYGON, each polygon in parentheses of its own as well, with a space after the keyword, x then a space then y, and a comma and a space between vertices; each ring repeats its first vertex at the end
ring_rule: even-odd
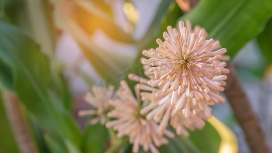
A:
POLYGON ((14 89, 22 103, 54 137, 80 146, 81 133, 75 121, 48 93, 48 59, 13 25, 1 21, 0 33, 0 59, 11 68, 14 89))

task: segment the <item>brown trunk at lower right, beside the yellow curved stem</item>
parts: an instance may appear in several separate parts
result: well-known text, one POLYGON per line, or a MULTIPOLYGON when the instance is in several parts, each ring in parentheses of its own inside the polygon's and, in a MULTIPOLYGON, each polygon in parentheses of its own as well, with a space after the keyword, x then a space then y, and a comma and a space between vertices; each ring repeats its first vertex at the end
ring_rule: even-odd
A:
POLYGON ((225 93, 234 115, 242 127, 245 139, 248 141, 252 152, 268 153, 270 148, 267 139, 237 78, 235 68, 230 63, 227 67, 230 69, 230 73, 228 74, 225 93))

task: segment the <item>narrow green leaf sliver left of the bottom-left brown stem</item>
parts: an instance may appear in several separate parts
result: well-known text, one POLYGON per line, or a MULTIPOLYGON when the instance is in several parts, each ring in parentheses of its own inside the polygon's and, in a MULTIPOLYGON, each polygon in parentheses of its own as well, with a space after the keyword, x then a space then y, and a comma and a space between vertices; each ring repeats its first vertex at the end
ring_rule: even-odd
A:
POLYGON ((14 140, 11 127, 9 125, 7 115, 5 113, 2 98, 0 94, 0 152, 17 153, 16 142, 14 140))

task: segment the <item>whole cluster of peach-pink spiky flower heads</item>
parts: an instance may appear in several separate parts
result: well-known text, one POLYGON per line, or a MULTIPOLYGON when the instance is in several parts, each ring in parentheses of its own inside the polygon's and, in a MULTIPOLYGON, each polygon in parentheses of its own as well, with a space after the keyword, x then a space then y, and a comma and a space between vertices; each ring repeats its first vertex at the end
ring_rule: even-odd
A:
POLYGON ((188 136, 187 130, 202 129, 203 120, 212 116, 209 106, 225 101, 219 91, 226 85, 227 76, 222 73, 229 73, 229 69, 220 60, 229 58, 218 40, 206 40, 203 28, 192 29, 190 21, 186 23, 187 27, 180 21, 178 29, 167 27, 164 42, 157 39, 156 49, 143 50, 150 58, 141 60, 149 80, 129 74, 129 79, 140 82, 135 85, 135 96, 125 81, 114 93, 117 97, 107 92, 103 97, 103 89, 93 87, 94 95, 88 93, 86 100, 94 109, 80 111, 80 115, 96 114, 92 124, 115 118, 106 127, 117 130, 117 138, 128 136, 133 152, 139 152, 139 146, 159 152, 155 146, 168 143, 164 136, 175 137, 166 129, 168 122, 178 135, 188 136))

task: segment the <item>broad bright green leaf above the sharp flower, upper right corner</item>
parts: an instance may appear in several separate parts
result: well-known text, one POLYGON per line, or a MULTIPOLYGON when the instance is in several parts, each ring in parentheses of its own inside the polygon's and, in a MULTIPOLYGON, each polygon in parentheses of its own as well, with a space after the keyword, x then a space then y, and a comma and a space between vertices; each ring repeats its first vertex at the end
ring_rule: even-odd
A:
MULTIPOLYGON (((179 20, 190 19, 209 33, 209 38, 219 39, 233 57, 249 40, 263 29, 272 13, 270 0, 203 0, 179 20)), ((179 21, 178 20, 178 21, 179 21)))

